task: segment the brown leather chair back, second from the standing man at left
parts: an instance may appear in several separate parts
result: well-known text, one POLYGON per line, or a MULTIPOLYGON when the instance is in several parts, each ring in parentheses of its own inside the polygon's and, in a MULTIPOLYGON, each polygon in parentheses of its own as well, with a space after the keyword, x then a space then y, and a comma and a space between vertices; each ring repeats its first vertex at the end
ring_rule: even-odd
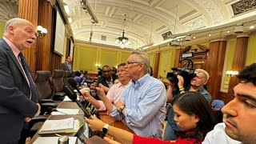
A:
POLYGON ((54 74, 53 74, 53 77, 52 77, 52 83, 53 83, 53 86, 54 86, 54 92, 55 93, 63 91, 64 74, 65 74, 64 70, 54 70, 54 74))

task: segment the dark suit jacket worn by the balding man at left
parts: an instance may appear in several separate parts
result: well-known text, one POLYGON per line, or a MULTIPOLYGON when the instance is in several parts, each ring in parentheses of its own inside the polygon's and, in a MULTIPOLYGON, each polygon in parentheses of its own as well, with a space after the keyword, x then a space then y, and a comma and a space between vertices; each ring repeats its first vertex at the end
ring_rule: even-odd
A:
POLYGON ((38 111, 30 99, 30 87, 22 67, 6 41, 0 38, 0 141, 18 141, 24 118, 38 111))

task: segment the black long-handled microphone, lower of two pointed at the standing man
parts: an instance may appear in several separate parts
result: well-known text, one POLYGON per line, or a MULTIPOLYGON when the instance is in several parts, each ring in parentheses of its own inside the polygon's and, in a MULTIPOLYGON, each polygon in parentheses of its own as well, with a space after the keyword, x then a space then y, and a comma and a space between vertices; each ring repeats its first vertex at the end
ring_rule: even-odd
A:
POLYGON ((78 99, 77 99, 78 96, 77 96, 77 94, 75 94, 74 90, 71 90, 69 86, 65 85, 63 87, 63 91, 73 102, 77 102, 77 104, 80 107, 80 109, 85 113, 86 118, 92 119, 89 111, 87 111, 84 108, 84 106, 82 106, 82 103, 80 101, 78 101, 78 99))

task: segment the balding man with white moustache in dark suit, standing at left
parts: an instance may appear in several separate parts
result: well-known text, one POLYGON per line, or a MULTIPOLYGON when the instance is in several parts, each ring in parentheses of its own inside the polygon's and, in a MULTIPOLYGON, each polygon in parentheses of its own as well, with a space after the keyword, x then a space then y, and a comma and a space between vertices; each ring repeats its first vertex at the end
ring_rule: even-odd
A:
MULTIPOLYGON (((22 127, 38 116, 40 105, 26 58, 21 51, 36 40, 33 24, 22 18, 6 22, 0 38, 0 139, 18 143, 22 127)), ((26 138, 25 138, 26 139, 26 138)))

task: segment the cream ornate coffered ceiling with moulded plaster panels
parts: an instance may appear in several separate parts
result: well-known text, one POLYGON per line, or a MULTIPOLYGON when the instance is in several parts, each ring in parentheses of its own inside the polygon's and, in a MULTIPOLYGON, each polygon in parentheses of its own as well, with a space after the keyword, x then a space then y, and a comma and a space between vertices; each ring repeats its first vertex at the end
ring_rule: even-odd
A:
MULTIPOLYGON (((256 15, 256 0, 83 0, 98 18, 93 24, 82 9, 82 0, 58 1, 70 9, 64 15, 72 18, 69 25, 74 39, 89 42, 92 34, 93 43, 116 45, 124 29, 134 49, 169 41, 172 34, 191 34, 256 15)), ((0 0, 1 20, 17 14, 18 0, 0 0)))

